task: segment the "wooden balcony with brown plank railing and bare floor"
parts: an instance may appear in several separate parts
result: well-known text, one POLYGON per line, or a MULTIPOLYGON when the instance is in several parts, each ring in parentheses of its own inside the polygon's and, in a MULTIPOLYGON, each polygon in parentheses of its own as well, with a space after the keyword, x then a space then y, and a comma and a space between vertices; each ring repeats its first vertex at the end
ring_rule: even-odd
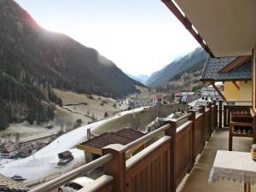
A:
MULTIPOLYGON (((62 184, 99 166, 103 166, 103 176, 79 192, 242 191, 243 183, 208 183, 217 150, 228 150, 229 147, 229 130, 222 128, 223 120, 224 124, 228 124, 231 112, 249 108, 230 103, 233 102, 206 103, 179 119, 167 120, 166 125, 132 143, 102 148, 99 159, 31 191, 56 191, 62 184), (151 138, 155 141, 155 137, 159 139, 150 142, 151 138), (125 153, 145 141, 152 144, 126 160, 125 153)), ((233 150, 249 151, 253 139, 236 137, 233 143, 233 150)))

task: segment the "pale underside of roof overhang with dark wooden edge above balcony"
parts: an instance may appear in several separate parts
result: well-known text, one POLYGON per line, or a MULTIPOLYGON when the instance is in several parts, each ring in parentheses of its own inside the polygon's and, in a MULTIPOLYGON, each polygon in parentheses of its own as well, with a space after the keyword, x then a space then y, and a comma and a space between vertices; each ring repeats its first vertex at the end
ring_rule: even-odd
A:
MULTIPOLYGON (((162 1, 171 9, 172 0, 162 1)), ((256 45, 255 0, 174 1, 178 10, 181 9, 183 18, 189 20, 191 28, 210 49, 209 53, 217 57, 252 55, 256 45)), ((177 10, 171 10, 177 16, 177 10)), ((179 17, 177 19, 181 20, 179 17)))

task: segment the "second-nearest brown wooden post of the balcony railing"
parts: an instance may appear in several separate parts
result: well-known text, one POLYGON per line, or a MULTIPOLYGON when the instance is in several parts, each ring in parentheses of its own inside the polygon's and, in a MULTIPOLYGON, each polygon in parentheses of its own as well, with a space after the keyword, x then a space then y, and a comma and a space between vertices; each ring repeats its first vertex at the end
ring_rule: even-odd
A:
POLYGON ((176 129, 177 129, 177 122, 175 119, 170 119, 165 122, 165 124, 170 124, 171 128, 165 131, 166 136, 172 137, 171 142, 171 191, 176 191, 176 129))

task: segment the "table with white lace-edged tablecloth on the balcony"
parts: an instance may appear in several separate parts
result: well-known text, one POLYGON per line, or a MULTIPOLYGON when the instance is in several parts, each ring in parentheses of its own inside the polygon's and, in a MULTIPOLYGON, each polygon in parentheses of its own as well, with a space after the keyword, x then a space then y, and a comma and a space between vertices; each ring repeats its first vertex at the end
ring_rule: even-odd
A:
POLYGON ((252 160, 250 153, 218 150, 209 183, 224 178, 244 183, 244 191, 250 192, 251 184, 256 183, 256 161, 252 160))

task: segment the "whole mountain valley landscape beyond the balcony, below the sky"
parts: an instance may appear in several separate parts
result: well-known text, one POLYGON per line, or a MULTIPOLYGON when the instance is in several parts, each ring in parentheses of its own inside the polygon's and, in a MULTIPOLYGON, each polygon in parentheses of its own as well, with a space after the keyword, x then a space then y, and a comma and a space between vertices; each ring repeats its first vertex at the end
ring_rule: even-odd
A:
POLYGON ((117 137, 131 143, 133 134, 143 137, 186 113, 189 91, 193 101, 201 96, 208 57, 201 48, 151 76, 133 76, 98 50, 45 30, 14 0, 0 1, 0 23, 0 175, 23 177, 26 186, 102 155, 102 147, 79 144, 102 135, 103 147, 117 137))

